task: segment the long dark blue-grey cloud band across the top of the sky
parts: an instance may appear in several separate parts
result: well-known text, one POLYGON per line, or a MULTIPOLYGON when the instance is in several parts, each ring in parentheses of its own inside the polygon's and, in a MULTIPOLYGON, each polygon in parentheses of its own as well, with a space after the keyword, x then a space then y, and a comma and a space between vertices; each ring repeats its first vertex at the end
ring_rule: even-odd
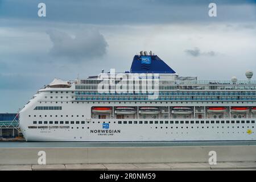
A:
MULTIPOLYGON (((37 15, 40 0, 3 0, 0 17, 7 19, 88 24, 162 24, 179 22, 255 22, 255 0, 214 0, 217 17, 208 16, 212 0, 44 0, 47 16, 37 15)), ((7 21, 6 23, 9 23, 7 21)), ((1 24, 2 26, 2 24, 1 24)))

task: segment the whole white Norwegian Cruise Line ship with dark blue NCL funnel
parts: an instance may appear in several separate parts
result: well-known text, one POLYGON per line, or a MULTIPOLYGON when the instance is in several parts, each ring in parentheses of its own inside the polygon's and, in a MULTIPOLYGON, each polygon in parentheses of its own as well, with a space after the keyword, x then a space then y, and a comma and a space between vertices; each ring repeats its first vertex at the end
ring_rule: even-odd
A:
POLYGON ((55 78, 19 111, 27 141, 255 140, 256 82, 179 76, 152 51, 130 71, 55 78))

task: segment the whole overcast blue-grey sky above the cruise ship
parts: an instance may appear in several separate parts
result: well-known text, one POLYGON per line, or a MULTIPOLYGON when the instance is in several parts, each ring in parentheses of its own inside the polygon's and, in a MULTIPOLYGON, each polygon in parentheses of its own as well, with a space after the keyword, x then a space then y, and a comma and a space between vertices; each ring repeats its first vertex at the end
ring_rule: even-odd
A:
POLYGON ((256 73, 256 1, 0 0, 0 113, 18 111, 55 77, 129 71, 142 50, 180 76, 246 80, 256 73))

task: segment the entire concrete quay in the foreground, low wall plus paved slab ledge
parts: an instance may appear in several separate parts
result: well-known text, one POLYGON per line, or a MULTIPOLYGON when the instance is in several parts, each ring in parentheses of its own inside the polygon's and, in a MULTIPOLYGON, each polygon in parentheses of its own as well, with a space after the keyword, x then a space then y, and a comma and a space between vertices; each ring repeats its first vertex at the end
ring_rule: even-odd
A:
POLYGON ((256 169, 256 146, 0 148, 0 170, 256 169), (46 165, 38 165, 40 151, 46 165), (215 151, 217 164, 209 164, 215 151), (6 155, 8 154, 8 155, 6 155))

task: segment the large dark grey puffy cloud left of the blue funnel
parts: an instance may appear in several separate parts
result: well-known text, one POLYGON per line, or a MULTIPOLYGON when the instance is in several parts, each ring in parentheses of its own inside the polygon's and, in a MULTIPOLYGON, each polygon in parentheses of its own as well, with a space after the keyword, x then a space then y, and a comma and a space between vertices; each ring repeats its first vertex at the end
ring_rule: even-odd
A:
POLYGON ((86 30, 69 35, 58 30, 46 31, 53 43, 49 54, 71 60, 88 60, 105 55, 108 43, 97 30, 86 30))

